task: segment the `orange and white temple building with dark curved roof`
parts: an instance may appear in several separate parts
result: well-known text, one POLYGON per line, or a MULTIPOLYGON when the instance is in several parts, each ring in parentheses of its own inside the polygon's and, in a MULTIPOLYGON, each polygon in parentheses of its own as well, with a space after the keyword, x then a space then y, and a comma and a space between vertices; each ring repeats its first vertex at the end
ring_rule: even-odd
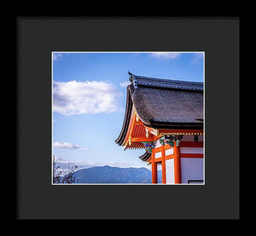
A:
POLYGON ((128 72, 125 118, 115 141, 124 149, 144 149, 152 183, 204 183, 203 83, 148 78, 128 72))

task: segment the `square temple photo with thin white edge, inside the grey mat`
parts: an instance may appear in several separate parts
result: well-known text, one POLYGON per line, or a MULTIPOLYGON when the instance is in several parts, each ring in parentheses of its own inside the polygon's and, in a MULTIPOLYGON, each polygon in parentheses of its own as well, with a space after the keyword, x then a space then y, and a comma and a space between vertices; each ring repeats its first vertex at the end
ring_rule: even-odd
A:
POLYGON ((53 184, 204 180, 204 61, 204 52, 52 52, 53 184))

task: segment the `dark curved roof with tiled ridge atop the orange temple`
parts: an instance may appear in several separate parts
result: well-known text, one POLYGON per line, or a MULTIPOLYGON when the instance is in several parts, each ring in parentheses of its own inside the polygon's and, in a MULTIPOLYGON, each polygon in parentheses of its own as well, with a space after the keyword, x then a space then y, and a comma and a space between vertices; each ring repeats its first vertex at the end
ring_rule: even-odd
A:
POLYGON ((131 84, 126 90, 125 118, 115 141, 117 144, 122 145, 125 140, 132 106, 143 124, 150 128, 203 129, 203 83, 148 78, 128 73, 131 84))

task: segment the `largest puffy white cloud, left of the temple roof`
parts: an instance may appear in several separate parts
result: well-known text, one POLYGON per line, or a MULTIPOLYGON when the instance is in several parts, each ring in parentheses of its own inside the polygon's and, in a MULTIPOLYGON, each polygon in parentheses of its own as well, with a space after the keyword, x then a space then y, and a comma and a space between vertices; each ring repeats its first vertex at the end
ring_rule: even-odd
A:
POLYGON ((122 94, 111 83, 53 82, 53 111, 62 115, 117 112, 122 94))

